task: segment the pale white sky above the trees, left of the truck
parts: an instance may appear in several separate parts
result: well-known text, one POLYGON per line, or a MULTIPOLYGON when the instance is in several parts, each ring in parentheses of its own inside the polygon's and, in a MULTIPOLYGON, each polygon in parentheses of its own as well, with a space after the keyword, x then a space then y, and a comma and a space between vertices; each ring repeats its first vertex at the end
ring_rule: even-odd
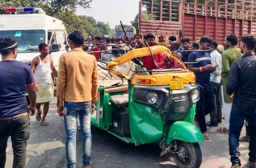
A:
POLYGON ((92 0, 91 8, 77 9, 77 15, 92 16, 96 21, 109 22, 112 29, 115 25, 130 24, 139 12, 139 0, 92 0))

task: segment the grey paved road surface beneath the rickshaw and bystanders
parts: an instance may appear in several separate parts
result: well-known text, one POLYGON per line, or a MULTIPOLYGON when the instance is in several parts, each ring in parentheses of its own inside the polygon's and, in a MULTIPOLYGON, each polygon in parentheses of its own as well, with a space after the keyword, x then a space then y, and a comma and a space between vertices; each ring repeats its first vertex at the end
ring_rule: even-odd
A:
MULTIPOLYGON (((56 113, 56 97, 50 103, 47 116, 49 126, 43 127, 31 117, 30 138, 27 144, 26 167, 65 167, 65 132, 63 118, 56 113)), ((222 124, 223 125, 223 124, 222 124)), ((244 134, 245 131, 243 130, 244 134)), ((203 162, 201 167, 230 167, 228 135, 209 128, 210 141, 200 143, 203 162)), ((126 144, 113 135, 92 127, 93 168, 101 167, 177 167, 172 158, 159 157, 157 144, 134 146, 126 144), (170 160, 169 160, 170 159, 170 160), (168 161, 169 160, 169 161, 168 161)), ((82 167, 81 135, 77 135, 77 167, 82 167)), ((242 164, 248 159, 248 143, 240 144, 242 164)), ((12 149, 9 139, 6 167, 12 167, 12 149)))

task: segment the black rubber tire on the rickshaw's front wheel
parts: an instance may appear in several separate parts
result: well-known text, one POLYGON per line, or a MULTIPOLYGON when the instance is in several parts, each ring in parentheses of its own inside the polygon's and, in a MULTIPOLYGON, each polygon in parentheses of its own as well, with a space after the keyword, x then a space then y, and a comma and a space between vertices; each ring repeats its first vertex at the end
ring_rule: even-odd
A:
POLYGON ((173 155, 174 161, 178 167, 182 168, 198 168, 202 163, 202 151, 198 143, 187 143, 178 141, 178 146, 182 145, 187 149, 188 155, 191 157, 188 163, 184 163, 179 159, 177 154, 173 155))

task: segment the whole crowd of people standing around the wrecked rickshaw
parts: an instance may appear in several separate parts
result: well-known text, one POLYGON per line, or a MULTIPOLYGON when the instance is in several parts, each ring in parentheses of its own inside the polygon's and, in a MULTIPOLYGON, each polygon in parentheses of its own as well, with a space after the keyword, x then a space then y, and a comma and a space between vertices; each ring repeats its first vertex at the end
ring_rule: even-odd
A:
MULTIPOLYGON (((153 34, 144 37, 136 34, 132 39, 92 39, 91 36, 84 39, 81 32, 74 31, 68 39, 71 52, 61 55, 58 71, 48 56, 47 44, 39 44, 40 55, 33 59, 30 67, 15 61, 18 46, 15 40, 0 39, 0 54, 3 60, 0 62, 0 78, 6 79, 0 81, 0 167, 5 167, 9 136, 12 138, 13 167, 25 166, 30 123, 28 109, 30 115, 36 114, 36 119, 41 125, 49 125, 45 118, 53 97, 51 73, 58 76, 57 113, 64 116, 67 167, 76 166, 75 125, 78 115, 81 121, 83 167, 91 167, 90 123, 97 101, 98 85, 96 60, 109 62, 133 48, 155 45, 162 45, 170 51, 180 53, 177 58, 188 70, 195 73, 196 83, 200 89, 195 122, 205 139, 210 139, 207 126, 218 127, 219 123, 222 123, 223 107, 225 127, 219 127, 218 130, 229 134, 231 167, 241 166, 239 141, 249 142, 249 161, 245 167, 256 167, 256 56, 255 51, 253 52, 256 46, 255 36, 243 36, 240 48, 237 47, 236 35, 226 35, 224 46, 218 45, 208 36, 201 37, 199 42, 190 41, 185 37, 179 42, 175 36, 168 39, 159 36, 156 41, 153 34), (31 102, 28 109, 24 96, 25 86, 31 102), (42 103, 44 107, 41 112, 42 103), (205 121, 207 114, 210 114, 209 123, 205 121), (244 122, 246 135, 240 137, 244 122)), ((149 72, 154 69, 180 68, 179 63, 167 57, 165 53, 156 53, 153 57, 147 55, 133 61, 143 65, 149 72)))

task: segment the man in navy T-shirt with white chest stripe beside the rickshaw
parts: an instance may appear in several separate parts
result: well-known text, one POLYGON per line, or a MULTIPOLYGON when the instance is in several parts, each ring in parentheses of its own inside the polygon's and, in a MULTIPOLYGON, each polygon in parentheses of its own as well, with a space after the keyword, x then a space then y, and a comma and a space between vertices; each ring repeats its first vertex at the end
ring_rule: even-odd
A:
MULTIPOLYGON (((208 36, 203 36, 200 39, 200 50, 209 50, 212 40, 208 36)), ((187 67, 196 75, 196 83, 201 87, 200 99, 196 106, 196 121, 199 122, 200 130, 205 139, 210 139, 207 133, 205 115, 209 114, 214 109, 215 95, 210 85, 210 73, 216 70, 216 67, 211 65, 210 54, 208 52, 194 51, 189 54, 187 67), (198 62, 198 63, 195 63, 198 62)))

